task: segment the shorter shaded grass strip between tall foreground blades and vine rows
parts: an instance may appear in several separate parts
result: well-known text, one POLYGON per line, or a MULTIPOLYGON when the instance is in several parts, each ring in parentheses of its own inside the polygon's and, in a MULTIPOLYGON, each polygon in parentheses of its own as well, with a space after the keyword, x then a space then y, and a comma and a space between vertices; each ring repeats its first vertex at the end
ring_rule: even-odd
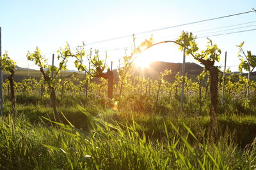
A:
MULTIPOLYGON (((18 96, 19 97, 19 96, 18 96)), ((21 96, 20 96, 21 97, 21 96)), ((16 105, 16 110, 18 115, 24 115, 28 118, 31 124, 38 124, 42 120, 40 117, 47 117, 51 120, 54 119, 52 115, 52 110, 49 107, 49 101, 43 101, 43 103, 35 102, 33 100, 35 97, 25 97, 32 98, 31 103, 27 101, 26 103, 21 102, 21 104, 16 105)), ((19 99, 19 98, 18 98, 19 99)), ((40 99, 38 99, 39 101, 40 99)), ((58 111, 63 113, 65 117, 77 128, 77 129, 88 129, 86 125, 86 117, 81 114, 81 111, 77 110, 75 105, 76 101, 73 98, 68 98, 66 101, 63 101, 63 106, 58 106, 58 111), (70 106, 65 105, 68 103, 68 99, 72 100, 70 106), (74 103, 74 104, 72 104, 74 103)), ((133 120, 136 120, 137 124, 135 125, 137 131, 140 134, 145 133, 145 135, 152 139, 161 139, 164 136, 164 125, 165 122, 168 129, 171 129, 172 122, 177 127, 182 127, 182 123, 188 125, 196 136, 204 136, 202 131, 207 132, 209 127, 209 116, 202 114, 180 114, 179 112, 166 112, 166 113, 143 113, 142 111, 132 111, 132 110, 121 110, 115 111, 111 108, 101 106, 100 103, 97 104, 97 101, 84 104, 84 107, 91 115, 100 118, 109 123, 119 122, 124 125, 132 125, 133 120)), ((5 114, 12 113, 12 104, 6 102, 4 105, 5 114)), ((67 124, 67 121, 64 118, 61 120, 67 124)), ((49 122, 48 122, 49 123, 49 122)), ((220 114, 218 115, 219 129, 221 133, 227 132, 228 134, 234 134, 234 142, 239 145, 239 147, 244 147, 252 143, 253 139, 256 136, 256 119, 255 116, 251 114, 220 114)), ((173 131, 170 131, 173 132, 173 131)))

